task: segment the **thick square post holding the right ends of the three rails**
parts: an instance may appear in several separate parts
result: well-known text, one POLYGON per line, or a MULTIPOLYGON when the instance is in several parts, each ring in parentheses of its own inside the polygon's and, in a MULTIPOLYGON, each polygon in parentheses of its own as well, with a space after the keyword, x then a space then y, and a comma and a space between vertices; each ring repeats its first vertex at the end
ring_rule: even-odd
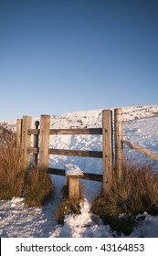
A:
POLYGON ((112 111, 102 111, 103 192, 111 187, 113 174, 112 111))

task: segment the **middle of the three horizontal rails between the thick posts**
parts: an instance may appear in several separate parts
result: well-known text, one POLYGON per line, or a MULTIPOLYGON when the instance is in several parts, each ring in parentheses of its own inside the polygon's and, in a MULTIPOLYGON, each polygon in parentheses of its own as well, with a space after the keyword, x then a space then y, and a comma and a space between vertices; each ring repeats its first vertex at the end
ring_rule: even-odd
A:
POLYGON ((88 151, 88 150, 68 150, 68 149, 53 149, 49 148, 50 155, 74 155, 83 157, 97 157, 102 158, 101 151, 88 151))

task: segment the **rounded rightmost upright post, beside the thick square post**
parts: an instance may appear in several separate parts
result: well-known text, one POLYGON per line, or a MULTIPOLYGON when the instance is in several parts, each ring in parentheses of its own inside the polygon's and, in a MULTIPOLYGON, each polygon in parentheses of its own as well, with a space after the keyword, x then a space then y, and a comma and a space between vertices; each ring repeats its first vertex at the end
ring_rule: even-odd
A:
POLYGON ((123 171, 122 109, 114 110, 115 130, 115 171, 119 180, 123 171))

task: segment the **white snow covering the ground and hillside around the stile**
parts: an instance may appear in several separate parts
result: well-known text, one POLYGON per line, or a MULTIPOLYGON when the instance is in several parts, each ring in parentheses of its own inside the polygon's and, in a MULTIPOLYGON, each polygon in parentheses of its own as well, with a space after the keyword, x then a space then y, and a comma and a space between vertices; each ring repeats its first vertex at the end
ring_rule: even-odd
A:
MULTIPOLYGON (((89 112, 69 112, 51 116, 51 128, 101 127, 101 110, 89 112)), ((36 119, 33 120, 33 123, 36 119)), ((10 122, 11 123, 11 122, 10 122)), ((12 122, 14 124, 15 122, 12 122)), ((158 105, 123 108, 123 138, 133 143, 142 144, 158 153, 158 105)), ((62 149, 82 149, 101 151, 100 135, 51 135, 50 147, 62 149)), ((129 147, 124 147, 126 158, 137 159, 153 165, 158 170, 158 163, 138 154, 129 147)), ((102 161, 96 158, 51 155, 51 167, 64 168, 65 165, 78 165, 83 172, 102 172, 102 161)), ((61 188, 66 178, 51 176, 55 194, 47 206, 26 208, 23 198, 0 201, 0 237, 2 238, 103 238, 118 237, 109 226, 104 226, 99 217, 90 213, 90 203, 100 192, 101 183, 83 180, 85 200, 79 216, 69 215, 64 225, 58 225, 55 211, 61 199, 61 188)), ((135 228, 130 237, 158 237, 158 217, 144 213, 145 219, 135 228)), ((121 237, 124 237, 123 235, 121 237)))

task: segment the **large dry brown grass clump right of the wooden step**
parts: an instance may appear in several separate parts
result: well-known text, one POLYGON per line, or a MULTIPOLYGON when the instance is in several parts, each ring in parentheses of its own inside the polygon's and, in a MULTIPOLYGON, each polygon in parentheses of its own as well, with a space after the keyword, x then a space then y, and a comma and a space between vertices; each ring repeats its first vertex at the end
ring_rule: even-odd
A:
POLYGON ((158 178, 148 165, 126 165, 121 182, 97 197, 91 208, 112 229, 130 234, 138 213, 158 214, 158 178))

